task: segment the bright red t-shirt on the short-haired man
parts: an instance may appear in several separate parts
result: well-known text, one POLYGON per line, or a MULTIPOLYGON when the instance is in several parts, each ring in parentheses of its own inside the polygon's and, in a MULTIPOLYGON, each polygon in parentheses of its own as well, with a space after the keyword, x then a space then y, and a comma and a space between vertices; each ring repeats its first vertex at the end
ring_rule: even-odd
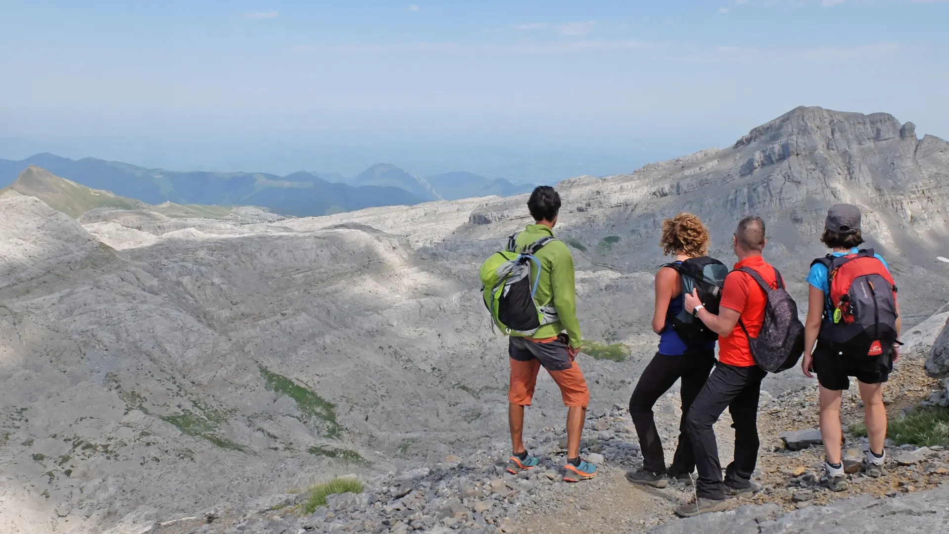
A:
MULTIPOLYGON (((761 275, 761 278, 765 279, 765 282, 777 288, 774 268, 761 256, 751 256, 735 264, 735 269, 741 267, 753 268, 761 275)), ((750 274, 733 270, 725 277, 719 308, 726 307, 740 313, 740 322, 745 324, 748 334, 754 338, 761 331, 761 324, 765 322, 765 304, 767 303, 768 296, 765 295, 764 289, 750 274)), ((736 367, 755 365, 752 351, 748 346, 748 337, 741 329, 741 324, 735 323, 735 329, 728 336, 719 336, 718 361, 736 367)))

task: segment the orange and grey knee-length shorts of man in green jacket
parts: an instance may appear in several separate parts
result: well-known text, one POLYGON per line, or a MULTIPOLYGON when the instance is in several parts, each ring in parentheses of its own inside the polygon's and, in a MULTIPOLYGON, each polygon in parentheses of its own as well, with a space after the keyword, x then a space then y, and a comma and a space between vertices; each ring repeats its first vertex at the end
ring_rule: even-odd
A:
MULTIPOLYGON (((508 387, 508 400, 512 404, 530 406, 534 387, 537 384, 537 373, 540 372, 541 359, 527 357, 530 353, 539 352, 536 349, 544 353, 563 350, 568 361, 561 361, 557 365, 546 364, 545 367, 548 368, 550 377, 560 387, 560 396, 564 399, 564 405, 586 408, 590 401, 590 394, 586 389, 584 373, 580 370, 580 365, 566 354, 567 346, 557 341, 541 343, 518 338, 511 339, 511 383, 508 387), (560 346, 557 347, 554 343, 560 346), (551 371, 549 367, 554 366, 566 367, 566 369, 551 371)), ((541 358, 544 358, 544 355, 541 355, 541 358)))

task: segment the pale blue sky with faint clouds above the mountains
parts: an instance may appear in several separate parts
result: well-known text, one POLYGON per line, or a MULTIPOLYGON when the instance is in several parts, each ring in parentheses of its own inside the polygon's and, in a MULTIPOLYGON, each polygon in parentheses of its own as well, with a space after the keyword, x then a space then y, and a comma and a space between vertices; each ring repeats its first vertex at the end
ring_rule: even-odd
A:
POLYGON ((947 1, 412 2, 7 2, 0 137, 158 163, 288 146, 648 161, 804 104, 949 138, 947 1))

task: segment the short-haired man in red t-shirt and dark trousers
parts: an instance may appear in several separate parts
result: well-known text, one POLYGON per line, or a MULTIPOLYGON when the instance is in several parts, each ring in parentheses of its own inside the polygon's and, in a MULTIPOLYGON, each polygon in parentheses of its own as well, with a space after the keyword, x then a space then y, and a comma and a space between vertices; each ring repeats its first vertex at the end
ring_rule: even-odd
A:
MULTIPOLYGON (((777 273, 761 257, 765 223, 747 216, 738 223, 733 247, 735 269, 751 267, 776 287, 777 273)), ((767 373, 754 363, 748 336, 761 331, 768 297, 747 273, 733 270, 722 285, 718 315, 708 312, 698 296, 685 296, 685 309, 718 334, 718 362, 690 408, 685 432, 696 454, 696 502, 679 506, 676 513, 690 517, 725 509, 727 497, 751 496, 761 490, 752 480, 758 459, 758 396, 767 373), (744 328, 742 328, 744 325, 744 328), (748 334, 745 334, 747 329, 748 334), (722 480, 713 425, 728 408, 735 429, 735 459, 722 480)))

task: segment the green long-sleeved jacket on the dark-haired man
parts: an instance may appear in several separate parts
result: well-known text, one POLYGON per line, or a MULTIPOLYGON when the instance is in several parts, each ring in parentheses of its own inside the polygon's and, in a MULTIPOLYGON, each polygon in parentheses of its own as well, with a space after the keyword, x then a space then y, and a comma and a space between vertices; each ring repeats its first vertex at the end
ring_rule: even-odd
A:
MULTIPOLYGON (((552 237, 553 230, 544 225, 528 225, 527 229, 517 234, 516 245, 520 248, 547 236, 552 237)), ((558 334, 567 330, 570 346, 579 348, 581 337, 580 322, 577 321, 577 288, 574 285, 573 256, 562 241, 551 241, 546 247, 537 251, 536 257, 541 263, 541 273, 534 300, 539 306, 549 305, 552 302, 557 308, 557 316, 560 320, 541 326, 531 337, 538 340, 556 338, 558 334)), ((531 280, 535 276, 537 276, 537 267, 531 264, 531 280)))

